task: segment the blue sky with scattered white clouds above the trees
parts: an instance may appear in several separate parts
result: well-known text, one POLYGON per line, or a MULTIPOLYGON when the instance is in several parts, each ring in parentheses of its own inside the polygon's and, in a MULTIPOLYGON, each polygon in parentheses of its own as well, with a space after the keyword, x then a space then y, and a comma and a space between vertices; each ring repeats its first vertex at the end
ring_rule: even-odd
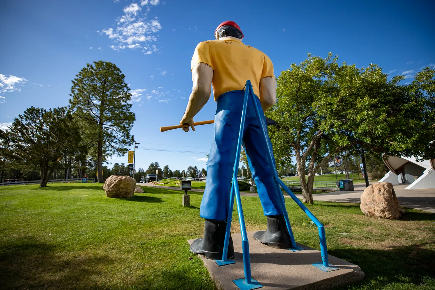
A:
MULTIPOLYGON (((23 1, 0 4, 0 126, 30 106, 68 104, 71 80, 87 63, 116 64, 134 94, 136 168, 205 168, 213 125, 161 133, 177 125, 191 92, 196 44, 236 21, 244 43, 264 51, 275 75, 307 53, 358 67, 376 63, 405 81, 435 67, 433 1, 23 1), (124 36, 122 33, 124 33, 124 36), (168 152, 178 150, 192 152, 168 152)), ((195 121, 214 118, 210 99, 195 121)), ((114 156, 110 162, 127 163, 114 156)), ((110 166, 110 165, 109 165, 110 166)))

